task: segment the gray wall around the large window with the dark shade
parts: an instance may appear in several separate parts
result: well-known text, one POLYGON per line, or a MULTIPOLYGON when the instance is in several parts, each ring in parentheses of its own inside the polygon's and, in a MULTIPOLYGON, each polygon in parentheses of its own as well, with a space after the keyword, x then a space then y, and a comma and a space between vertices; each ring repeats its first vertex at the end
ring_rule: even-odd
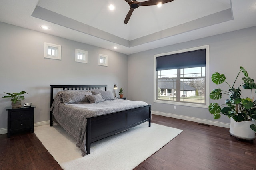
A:
MULTIPOLYGON (((210 46, 210 76, 214 72, 220 72, 232 83, 240 66, 243 66, 249 76, 256 80, 256 27, 252 27, 129 55, 128 98, 152 104, 152 111, 214 121, 207 108, 176 105, 174 109, 174 105, 153 102, 153 55, 202 45, 210 46)), ((215 88, 216 85, 210 80, 210 91, 215 88)), ((255 94, 255 91, 253 93, 255 94)), ((212 102, 210 100, 210 103, 212 102)), ((225 116, 217 121, 230 123, 225 116)))

